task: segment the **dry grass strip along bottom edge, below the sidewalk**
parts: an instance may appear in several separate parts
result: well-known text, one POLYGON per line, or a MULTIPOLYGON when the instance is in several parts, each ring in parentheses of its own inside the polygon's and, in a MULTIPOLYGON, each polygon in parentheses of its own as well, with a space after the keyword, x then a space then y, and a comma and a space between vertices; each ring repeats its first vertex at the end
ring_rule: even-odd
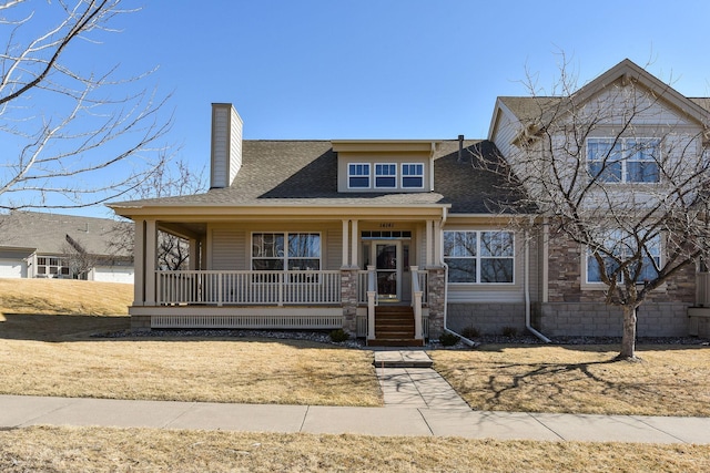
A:
POLYGON ((0 432, 3 472, 684 472, 710 445, 30 428, 0 432))

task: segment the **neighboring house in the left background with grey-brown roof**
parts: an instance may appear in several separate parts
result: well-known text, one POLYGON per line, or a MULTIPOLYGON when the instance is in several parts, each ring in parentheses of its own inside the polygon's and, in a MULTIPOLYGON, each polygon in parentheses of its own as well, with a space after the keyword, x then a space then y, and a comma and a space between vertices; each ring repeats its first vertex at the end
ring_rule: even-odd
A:
POLYGON ((133 257, 111 241, 125 233, 106 218, 40 212, 0 215, 0 277, 133 282, 133 257))

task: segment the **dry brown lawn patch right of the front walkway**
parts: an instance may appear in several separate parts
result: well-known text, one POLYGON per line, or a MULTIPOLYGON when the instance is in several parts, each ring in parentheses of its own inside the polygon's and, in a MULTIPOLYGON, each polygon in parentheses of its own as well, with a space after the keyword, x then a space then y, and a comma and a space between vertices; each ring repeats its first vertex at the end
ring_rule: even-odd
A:
POLYGON ((641 362, 612 361, 617 354, 616 346, 430 353, 473 409, 710 417, 710 348, 640 346, 641 362))

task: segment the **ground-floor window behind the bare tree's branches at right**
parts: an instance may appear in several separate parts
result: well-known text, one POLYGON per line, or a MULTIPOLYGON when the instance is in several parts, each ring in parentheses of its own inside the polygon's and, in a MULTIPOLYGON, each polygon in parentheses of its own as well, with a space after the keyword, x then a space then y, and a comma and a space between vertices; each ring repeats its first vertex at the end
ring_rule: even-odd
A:
MULTIPOLYGON (((609 236, 606 238, 605 247, 607 249, 611 249, 612 254, 618 259, 627 259, 636 253, 636 238, 628 234, 625 235, 620 230, 613 230, 610 232, 609 236)), ((661 264, 660 235, 657 235, 647 241, 646 249, 650 256, 647 255, 643 257, 640 273, 636 277, 636 280, 639 282, 653 279, 657 276, 655 268, 659 267, 661 264)), ((607 275, 612 275, 619 266, 612 257, 604 255, 601 255, 601 257, 607 268, 607 275)), ((617 281, 621 282, 622 280, 621 274, 617 275, 617 281)), ((587 282, 601 282, 601 268, 590 249, 587 249, 587 282)))

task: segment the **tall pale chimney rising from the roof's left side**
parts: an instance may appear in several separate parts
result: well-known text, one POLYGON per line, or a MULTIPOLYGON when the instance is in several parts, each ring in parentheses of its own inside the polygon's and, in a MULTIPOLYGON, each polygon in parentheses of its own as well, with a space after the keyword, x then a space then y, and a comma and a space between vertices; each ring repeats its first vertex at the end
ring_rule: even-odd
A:
POLYGON ((212 104, 210 187, 232 185, 242 167, 242 117, 231 103, 212 104))

